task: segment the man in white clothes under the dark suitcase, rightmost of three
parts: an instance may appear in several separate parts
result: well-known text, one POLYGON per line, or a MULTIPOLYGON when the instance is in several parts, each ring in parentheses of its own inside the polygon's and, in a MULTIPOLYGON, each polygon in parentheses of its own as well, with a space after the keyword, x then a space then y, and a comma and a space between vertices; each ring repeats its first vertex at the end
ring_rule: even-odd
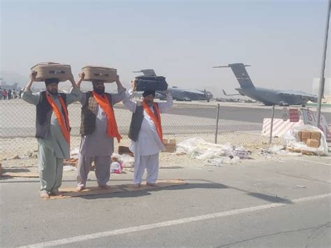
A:
POLYGON ((155 91, 146 91, 142 94, 141 103, 131 100, 135 90, 136 80, 132 81, 132 90, 123 103, 133 112, 128 138, 131 139, 130 150, 135 155, 134 187, 139 188, 142 175, 147 169, 147 185, 154 186, 159 175, 159 151, 165 150, 162 143, 161 112, 172 107, 172 96, 168 91, 166 103, 154 103, 155 91))

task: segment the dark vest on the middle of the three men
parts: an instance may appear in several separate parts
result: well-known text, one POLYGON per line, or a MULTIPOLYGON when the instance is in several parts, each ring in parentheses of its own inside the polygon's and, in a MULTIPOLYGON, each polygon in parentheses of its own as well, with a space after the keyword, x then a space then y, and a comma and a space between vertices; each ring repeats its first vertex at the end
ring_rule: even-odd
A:
MULTIPOLYGON (((112 95, 105 93, 105 96, 108 97, 110 107, 112 108, 112 95)), ((98 103, 94 99, 92 92, 86 93, 86 101, 82 106, 81 112, 81 123, 80 123, 80 134, 86 136, 94 132, 96 128, 96 111, 98 103)))

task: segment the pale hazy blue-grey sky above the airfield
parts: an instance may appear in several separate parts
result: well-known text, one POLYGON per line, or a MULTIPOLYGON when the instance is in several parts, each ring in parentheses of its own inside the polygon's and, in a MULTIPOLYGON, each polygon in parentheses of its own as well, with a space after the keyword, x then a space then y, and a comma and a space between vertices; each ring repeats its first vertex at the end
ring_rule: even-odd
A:
POLYGON ((75 75, 87 64, 110 66, 124 85, 132 71, 154 68, 170 86, 221 96, 239 85, 230 68, 212 66, 242 62, 257 86, 309 93, 326 8, 327 0, 1 0, 0 66, 21 75, 41 61, 71 64, 75 75))

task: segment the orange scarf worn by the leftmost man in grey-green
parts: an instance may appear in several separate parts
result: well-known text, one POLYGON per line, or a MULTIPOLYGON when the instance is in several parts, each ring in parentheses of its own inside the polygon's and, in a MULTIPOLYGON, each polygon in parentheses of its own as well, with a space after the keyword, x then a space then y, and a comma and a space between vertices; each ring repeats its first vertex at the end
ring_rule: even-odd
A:
POLYGON ((60 124, 60 128, 62 131, 62 134, 64 135, 64 138, 70 144, 70 126, 69 126, 69 118, 68 118, 68 110, 66 109, 66 105, 64 104, 64 99, 62 99, 61 96, 59 96, 59 101, 61 103, 62 110, 64 110, 64 118, 63 115, 61 115, 61 112, 59 108, 57 108, 57 105, 54 103, 54 100, 52 99, 49 94, 46 93, 46 99, 48 103, 50 103, 53 112, 55 116, 57 117, 57 121, 60 124))

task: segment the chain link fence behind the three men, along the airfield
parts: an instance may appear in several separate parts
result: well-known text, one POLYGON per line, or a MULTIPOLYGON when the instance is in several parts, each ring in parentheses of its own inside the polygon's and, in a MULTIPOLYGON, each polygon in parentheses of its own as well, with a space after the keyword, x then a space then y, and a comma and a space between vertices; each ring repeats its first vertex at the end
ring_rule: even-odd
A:
MULTIPOLYGON (((123 137, 120 145, 128 145, 127 134, 132 113, 122 103, 117 103, 114 108, 119 133, 123 137)), ((1 100, 0 109, 1 159, 12 154, 24 154, 27 149, 36 149, 36 106, 22 99, 11 99, 1 100)), ((68 106, 72 128, 71 149, 80 146, 80 109, 78 102, 68 106)), ((274 118, 282 118, 282 109, 276 107, 274 118)), ((164 138, 175 139, 177 143, 186 138, 203 138, 210 143, 246 147, 268 142, 269 138, 261 136, 261 133, 263 119, 271 117, 272 106, 179 101, 174 101, 173 108, 161 115, 164 138)), ((279 139, 274 139, 273 143, 279 143, 279 139)))

